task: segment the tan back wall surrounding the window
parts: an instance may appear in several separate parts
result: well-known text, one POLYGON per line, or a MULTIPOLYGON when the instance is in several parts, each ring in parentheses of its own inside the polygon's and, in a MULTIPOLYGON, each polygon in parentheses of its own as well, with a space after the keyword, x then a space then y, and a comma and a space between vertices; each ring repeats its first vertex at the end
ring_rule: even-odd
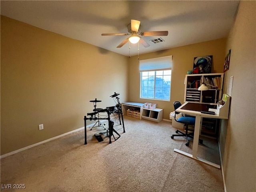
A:
POLYGON ((173 102, 184 102, 184 79, 188 70, 193 70, 194 57, 213 56, 212 73, 222 73, 224 68, 226 39, 212 40, 168 50, 140 55, 140 60, 172 55, 171 99, 168 101, 140 99, 140 71, 138 56, 130 58, 129 64, 129 100, 132 102, 157 103, 164 109, 164 119, 170 119, 174 111, 173 102))

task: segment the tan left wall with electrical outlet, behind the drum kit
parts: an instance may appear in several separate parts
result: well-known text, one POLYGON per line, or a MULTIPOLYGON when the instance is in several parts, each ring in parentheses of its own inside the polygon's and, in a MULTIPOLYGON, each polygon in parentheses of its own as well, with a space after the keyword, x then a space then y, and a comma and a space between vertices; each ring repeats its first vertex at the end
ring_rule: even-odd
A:
POLYGON ((83 127, 127 80, 128 57, 1 16, 1 155, 83 127))

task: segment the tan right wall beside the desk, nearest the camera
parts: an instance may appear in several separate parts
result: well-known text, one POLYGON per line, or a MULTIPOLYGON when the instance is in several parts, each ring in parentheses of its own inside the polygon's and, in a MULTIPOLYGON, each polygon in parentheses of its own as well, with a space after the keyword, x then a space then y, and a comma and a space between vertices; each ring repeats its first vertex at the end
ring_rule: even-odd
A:
POLYGON ((228 192, 256 191, 256 2, 240 1, 226 46, 231 49, 224 93, 234 76, 230 118, 223 120, 220 150, 228 192))

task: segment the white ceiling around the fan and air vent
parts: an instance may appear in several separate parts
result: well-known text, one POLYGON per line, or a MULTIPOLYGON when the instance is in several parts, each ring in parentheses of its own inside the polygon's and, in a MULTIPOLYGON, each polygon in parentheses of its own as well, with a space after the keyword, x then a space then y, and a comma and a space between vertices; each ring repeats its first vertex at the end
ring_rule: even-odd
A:
MULTIPOLYGON (((128 33, 131 19, 140 20, 140 32, 164 31, 164 42, 139 46, 140 54, 224 38, 234 22, 239 1, 4 1, 1 15, 62 34, 106 50, 129 56, 129 43, 116 48, 127 36, 101 36, 102 33, 128 33)), ((138 54, 131 44, 130 55, 138 54)))

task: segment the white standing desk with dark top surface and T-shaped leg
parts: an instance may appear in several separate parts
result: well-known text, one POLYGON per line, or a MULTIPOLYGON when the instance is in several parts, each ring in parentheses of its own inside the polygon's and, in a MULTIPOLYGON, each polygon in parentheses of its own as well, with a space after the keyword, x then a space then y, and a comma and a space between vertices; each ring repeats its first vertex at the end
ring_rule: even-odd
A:
POLYGON ((216 168, 220 168, 220 165, 212 163, 210 161, 204 160, 202 158, 197 157, 197 150, 198 150, 198 140, 199 140, 199 134, 200 129, 202 126, 202 118, 208 117, 208 118, 219 118, 219 119, 228 119, 228 112, 229 112, 229 103, 230 103, 230 97, 226 94, 223 95, 223 98, 226 100, 226 103, 220 108, 219 106, 217 109, 210 109, 209 111, 214 111, 215 115, 213 114, 203 114, 201 113, 201 110, 205 110, 205 105, 207 104, 201 104, 201 103, 193 103, 193 102, 185 102, 182 106, 180 106, 176 111, 182 112, 184 114, 189 114, 192 116, 196 116, 196 123, 194 128, 194 140, 193 140, 193 152, 192 154, 183 152, 178 149, 174 149, 175 152, 181 153, 183 155, 186 155, 190 158, 199 160, 201 162, 204 162, 206 164, 209 164, 211 166, 214 166, 216 168))

